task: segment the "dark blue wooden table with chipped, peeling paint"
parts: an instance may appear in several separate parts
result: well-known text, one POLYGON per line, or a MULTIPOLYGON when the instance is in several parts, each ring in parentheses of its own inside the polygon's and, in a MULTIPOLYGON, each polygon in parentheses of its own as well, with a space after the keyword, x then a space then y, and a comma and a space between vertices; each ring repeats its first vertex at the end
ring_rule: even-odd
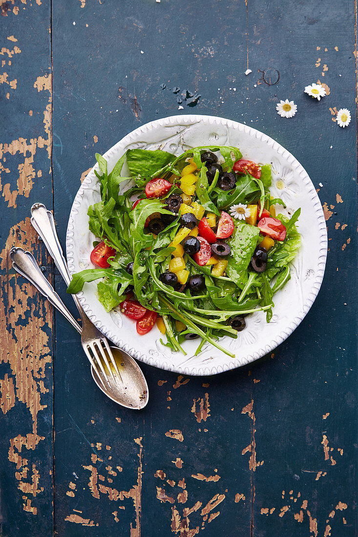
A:
POLYGON ((1 536, 356 535, 355 3, 0 8, 1 536), (319 102, 304 93, 318 81, 319 102), (181 103, 175 88, 196 99, 181 103), (276 113, 286 98, 292 119, 276 113), (344 129, 341 107, 352 114, 344 129), (273 353, 211 378, 143 365, 150 400, 134 412, 96 388, 77 333, 8 253, 33 251, 73 311, 31 205, 53 209, 64 244, 94 154, 190 112, 262 130, 304 165, 324 208, 326 274, 273 353))

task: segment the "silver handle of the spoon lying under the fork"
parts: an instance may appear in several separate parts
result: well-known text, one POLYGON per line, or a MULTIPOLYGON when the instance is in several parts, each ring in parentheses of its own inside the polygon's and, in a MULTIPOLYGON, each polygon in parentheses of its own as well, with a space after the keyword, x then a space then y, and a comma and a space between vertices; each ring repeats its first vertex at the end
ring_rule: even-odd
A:
POLYGON ((26 280, 30 281, 31 284, 33 284, 38 291, 51 302, 52 306, 58 309, 62 315, 66 317, 67 321, 74 326, 77 332, 81 333, 81 326, 74 320, 59 295, 45 278, 44 274, 42 274, 33 255, 30 252, 25 252, 22 248, 11 248, 9 255, 12 261, 12 266, 16 272, 21 274, 26 280))

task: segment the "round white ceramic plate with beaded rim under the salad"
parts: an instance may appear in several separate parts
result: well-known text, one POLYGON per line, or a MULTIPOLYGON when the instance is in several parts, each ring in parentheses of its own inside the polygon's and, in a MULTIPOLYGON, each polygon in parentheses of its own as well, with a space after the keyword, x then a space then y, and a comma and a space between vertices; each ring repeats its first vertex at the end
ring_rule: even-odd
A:
MULTIPOLYGON (((292 264, 291 280, 275 294, 271 322, 266 323, 265 313, 256 313, 247 317, 246 329, 239 333, 238 339, 221 339, 221 344, 233 352, 235 358, 210 344, 204 345, 196 357, 198 340, 184 342, 187 352, 184 356, 160 343, 162 335, 156 326, 147 335, 138 336, 135 321, 118 312, 106 313, 96 297, 97 282, 85 284, 83 292, 78 294, 91 321, 121 349, 147 364, 187 375, 222 373, 275 349, 295 330, 312 306, 323 279, 327 255, 324 214, 309 176, 280 144, 247 125, 206 115, 176 115, 133 130, 104 157, 110 171, 129 148, 164 149, 178 155, 191 147, 213 144, 238 147, 244 158, 261 164, 271 162, 271 192, 287 204, 287 210, 282 212, 292 214, 298 207, 302 208, 298 221, 302 247, 292 264)), ((94 169, 98 171, 97 164, 77 192, 68 221, 66 248, 71 274, 93 268, 90 252, 95 237, 88 230, 87 211, 89 205, 99 201, 99 184, 94 169)))

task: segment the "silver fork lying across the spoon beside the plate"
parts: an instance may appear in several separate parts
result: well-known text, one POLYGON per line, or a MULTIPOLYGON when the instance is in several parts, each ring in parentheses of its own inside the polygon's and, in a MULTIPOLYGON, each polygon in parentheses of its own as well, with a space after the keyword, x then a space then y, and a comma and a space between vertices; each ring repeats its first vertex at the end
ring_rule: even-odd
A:
MULTIPOLYGON (((65 280, 68 286, 71 281, 71 277, 68 272, 67 263, 65 261, 65 258, 63 257, 63 253, 62 253, 58 235, 56 233, 55 222, 54 222, 52 213, 50 211, 47 211, 45 205, 40 204, 40 203, 35 203, 31 207, 31 215, 32 215, 31 216, 32 226, 40 235, 40 237, 42 238, 42 241, 44 241, 49 255, 51 255, 51 257, 53 258, 57 268, 59 269, 62 275, 62 278, 65 280)), ((93 361, 93 359, 97 361, 99 367, 101 367, 102 369, 105 379, 107 379, 107 375, 105 374, 104 369, 103 369, 102 360, 99 358, 99 355, 98 355, 98 351, 99 351, 99 353, 101 353, 101 356, 104 360, 106 367, 108 368, 108 371, 111 375, 113 382, 116 383, 118 386, 116 377, 118 376, 121 382, 123 382, 123 380, 120 376, 119 369, 116 364, 116 360, 114 360, 113 358, 113 354, 110 349, 108 339, 89 320, 80 302, 78 301, 77 296, 72 295, 72 297, 81 315, 81 320, 82 320, 81 343, 82 343, 84 352, 87 354, 87 357, 90 361, 91 360, 93 361), (114 368, 114 371, 116 372, 116 376, 114 376, 113 374, 112 367, 110 366, 108 358, 107 358, 107 354, 114 368)), ((107 380, 107 382, 109 381, 107 380)))

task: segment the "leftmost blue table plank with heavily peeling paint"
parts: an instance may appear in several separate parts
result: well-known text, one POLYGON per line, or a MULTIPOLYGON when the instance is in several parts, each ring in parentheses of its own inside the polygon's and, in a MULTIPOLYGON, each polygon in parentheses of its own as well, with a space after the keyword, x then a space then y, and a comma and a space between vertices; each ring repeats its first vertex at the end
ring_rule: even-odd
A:
POLYGON ((52 207, 49 5, 1 2, 0 135, 0 533, 51 535, 52 310, 17 277, 11 246, 52 265, 31 227, 30 207, 52 207))

